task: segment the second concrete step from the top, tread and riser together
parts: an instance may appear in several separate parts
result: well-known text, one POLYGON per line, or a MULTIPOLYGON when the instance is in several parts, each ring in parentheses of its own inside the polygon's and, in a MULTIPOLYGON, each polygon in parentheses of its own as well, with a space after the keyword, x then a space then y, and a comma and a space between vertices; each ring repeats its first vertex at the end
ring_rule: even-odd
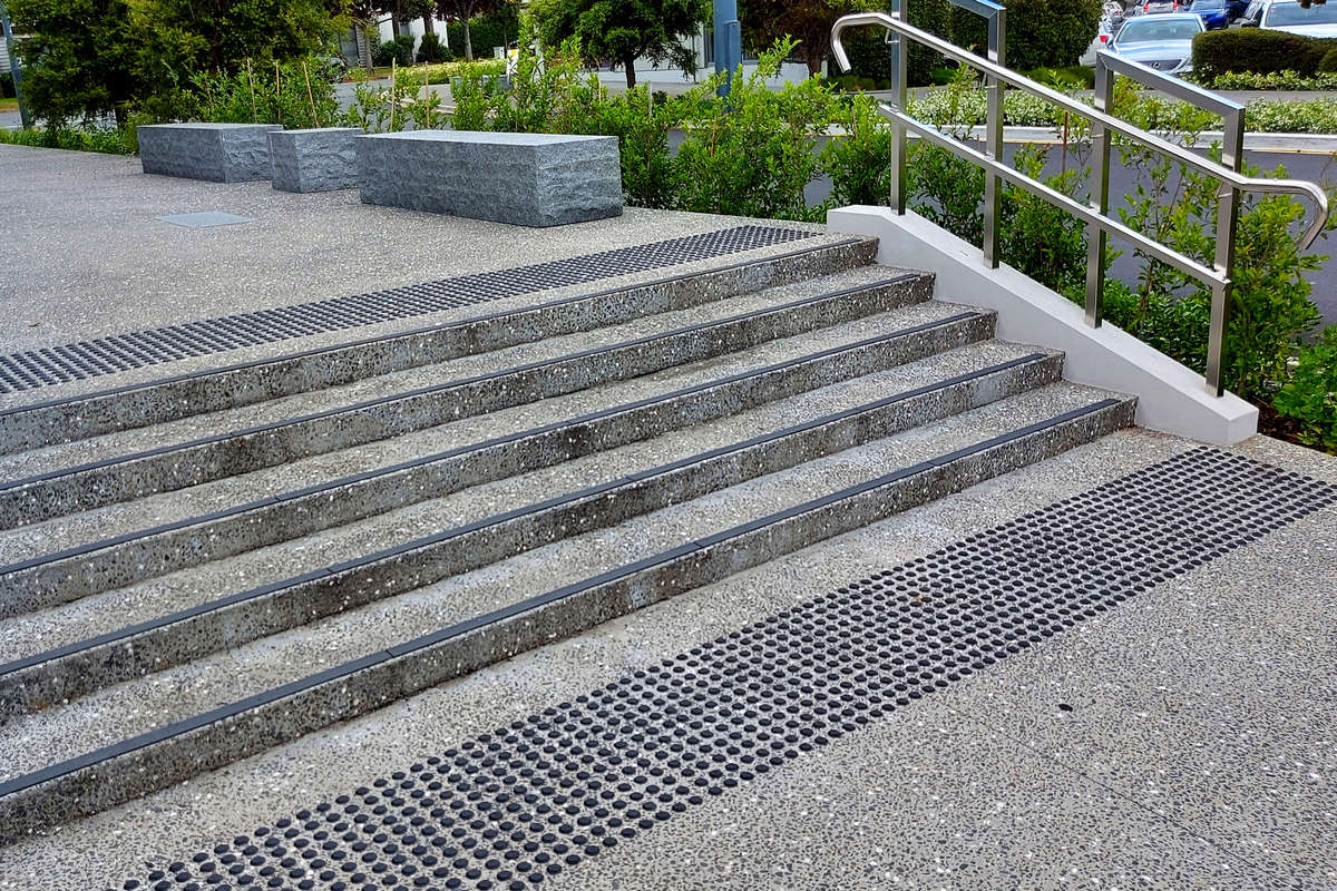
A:
POLYGON ((916 274, 856 270, 797 289, 771 290, 751 306, 717 301, 592 334, 554 338, 265 406, 107 434, 0 458, 0 528, 239 476, 313 454, 422 430, 650 374, 864 318, 928 297, 916 274), (805 293, 808 291, 808 293, 805 293), (759 305, 759 306, 758 306, 759 305), (742 306, 742 309, 739 309, 742 306), (705 317, 705 318, 702 318, 705 317), (574 350, 572 341, 584 349, 574 350), (523 351, 521 354, 517 354, 523 351))

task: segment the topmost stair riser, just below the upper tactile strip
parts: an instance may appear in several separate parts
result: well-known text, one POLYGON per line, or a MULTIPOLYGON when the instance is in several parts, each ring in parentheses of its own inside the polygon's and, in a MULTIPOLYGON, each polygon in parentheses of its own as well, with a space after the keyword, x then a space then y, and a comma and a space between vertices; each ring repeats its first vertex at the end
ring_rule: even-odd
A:
POLYGON ((461 355, 618 325, 642 315, 866 266, 876 254, 876 243, 868 240, 793 251, 715 271, 552 301, 533 309, 4 411, 0 413, 0 454, 253 405, 461 355))

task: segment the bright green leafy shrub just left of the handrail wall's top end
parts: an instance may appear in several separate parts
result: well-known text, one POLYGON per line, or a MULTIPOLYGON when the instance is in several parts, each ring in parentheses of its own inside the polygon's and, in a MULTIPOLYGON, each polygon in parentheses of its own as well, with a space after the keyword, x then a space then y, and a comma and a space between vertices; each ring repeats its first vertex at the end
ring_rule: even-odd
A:
POLYGON ((678 207, 707 214, 810 219, 805 187, 818 175, 817 144, 834 108, 830 88, 810 77, 766 85, 793 51, 779 41, 747 76, 733 77, 729 110, 709 90, 683 98, 686 139, 678 148, 678 207))

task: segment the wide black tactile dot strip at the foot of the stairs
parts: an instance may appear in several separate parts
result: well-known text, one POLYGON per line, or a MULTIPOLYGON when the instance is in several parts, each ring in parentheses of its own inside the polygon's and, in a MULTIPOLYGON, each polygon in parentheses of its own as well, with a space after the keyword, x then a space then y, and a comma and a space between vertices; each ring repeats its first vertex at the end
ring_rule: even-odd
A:
POLYGON ((123 888, 539 886, 1337 501, 1194 449, 861 578, 123 888))

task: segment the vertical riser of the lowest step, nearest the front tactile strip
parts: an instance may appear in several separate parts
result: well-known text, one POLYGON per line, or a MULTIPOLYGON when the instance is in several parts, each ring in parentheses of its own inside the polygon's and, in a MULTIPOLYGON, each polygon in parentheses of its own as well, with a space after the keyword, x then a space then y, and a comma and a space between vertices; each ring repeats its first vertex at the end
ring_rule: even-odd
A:
POLYGON ((222 709, 213 720, 122 753, 60 773, 0 797, 0 843, 230 764, 333 723, 349 720, 436 684, 464 676, 516 653, 578 635, 685 590, 850 532, 894 513, 960 492, 1132 421, 1134 403, 1119 402, 967 453, 921 472, 806 509, 731 536, 711 536, 623 574, 575 590, 554 593, 543 604, 508 610, 491 621, 475 620, 358 663, 353 673, 332 669, 305 688, 222 709))

